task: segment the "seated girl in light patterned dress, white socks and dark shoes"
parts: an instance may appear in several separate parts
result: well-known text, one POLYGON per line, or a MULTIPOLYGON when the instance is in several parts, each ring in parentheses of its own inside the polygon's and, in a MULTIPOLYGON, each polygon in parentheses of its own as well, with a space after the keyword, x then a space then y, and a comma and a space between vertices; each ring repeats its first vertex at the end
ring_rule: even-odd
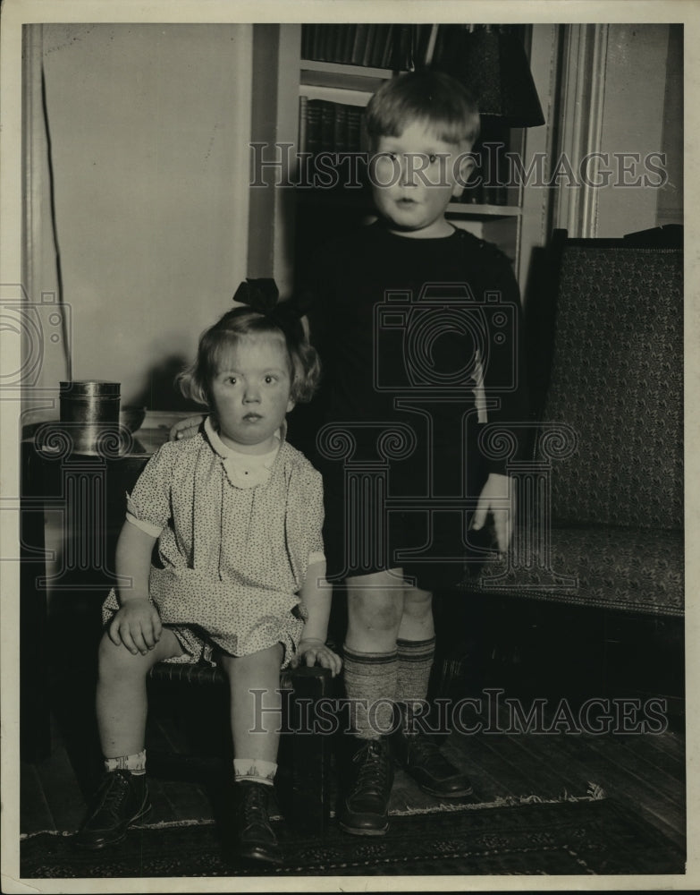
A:
POLYGON ((341 669, 325 645, 331 590, 321 476, 285 441, 285 416, 310 399, 318 375, 299 320, 250 307, 207 329, 197 361, 181 374, 183 393, 210 415, 194 438, 160 448, 128 501, 116 555, 122 584, 105 601, 99 647, 105 778, 76 834, 80 846, 122 840, 150 810, 149 669, 215 659, 231 685, 238 853, 281 863, 268 808, 280 669, 341 669), (156 540, 160 567, 151 565, 156 540), (251 690, 261 689, 266 711, 255 717, 251 690))

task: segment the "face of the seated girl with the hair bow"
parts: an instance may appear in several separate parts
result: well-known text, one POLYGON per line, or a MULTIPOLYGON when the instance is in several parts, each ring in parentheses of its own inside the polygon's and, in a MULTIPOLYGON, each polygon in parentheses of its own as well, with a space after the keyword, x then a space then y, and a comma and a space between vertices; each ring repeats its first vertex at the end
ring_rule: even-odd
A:
POLYGON ((266 454, 294 402, 289 355, 281 337, 239 338, 223 354, 209 389, 225 445, 243 454, 266 454))

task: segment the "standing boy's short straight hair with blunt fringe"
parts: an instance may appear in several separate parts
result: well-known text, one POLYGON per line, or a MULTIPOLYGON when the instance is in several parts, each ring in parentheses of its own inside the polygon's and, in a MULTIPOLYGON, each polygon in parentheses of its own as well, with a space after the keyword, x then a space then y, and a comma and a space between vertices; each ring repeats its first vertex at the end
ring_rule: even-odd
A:
POLYGON ((445 72, 407 72, 384 81, 367 105, 367 136, 398 137, 413 121, 425 123, 448 143, 474 145, 479 135, 477 101, 445 72))

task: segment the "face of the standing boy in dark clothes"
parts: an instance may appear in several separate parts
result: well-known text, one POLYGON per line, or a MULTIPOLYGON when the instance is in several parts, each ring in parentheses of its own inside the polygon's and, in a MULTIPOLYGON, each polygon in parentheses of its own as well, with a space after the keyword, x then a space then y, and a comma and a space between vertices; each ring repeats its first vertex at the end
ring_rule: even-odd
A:
POLYGON ((375 206, 392 229, 404 236, 451 234, 444 212, 464 189, 473 160, 470 147, 441 140, 423 122, 398 137, 380 137, 370 166, 375 206))

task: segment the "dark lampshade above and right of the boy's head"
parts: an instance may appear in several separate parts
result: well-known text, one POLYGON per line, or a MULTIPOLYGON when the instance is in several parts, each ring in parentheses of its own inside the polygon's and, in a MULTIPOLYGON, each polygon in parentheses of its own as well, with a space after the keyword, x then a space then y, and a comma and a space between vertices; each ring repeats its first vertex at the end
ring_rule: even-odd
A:
POLYGON ((518 30, 509 25, 445 26, 433 67, 461 81, 481 115, 509 127, 544 124, 535 81, 518 30))

